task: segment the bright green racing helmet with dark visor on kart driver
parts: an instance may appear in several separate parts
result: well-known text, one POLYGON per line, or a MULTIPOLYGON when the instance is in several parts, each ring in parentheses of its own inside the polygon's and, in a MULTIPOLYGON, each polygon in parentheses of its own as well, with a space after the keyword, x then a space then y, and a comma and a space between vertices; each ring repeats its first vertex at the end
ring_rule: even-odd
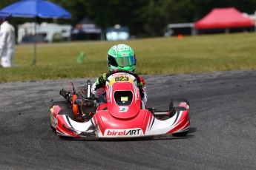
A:
POLYGON ((136 65, 134 50, 125 44, 114 45, 108 50, 107 64, 109 71, 125 69, 134 72, 136 65))

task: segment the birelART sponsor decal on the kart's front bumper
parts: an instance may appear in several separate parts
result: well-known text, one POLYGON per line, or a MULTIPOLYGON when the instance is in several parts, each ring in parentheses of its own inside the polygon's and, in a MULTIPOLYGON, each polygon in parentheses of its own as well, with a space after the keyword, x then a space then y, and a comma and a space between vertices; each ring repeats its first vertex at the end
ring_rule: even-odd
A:
POLYGON ((130 136, 141 136, 142 129, 107 129, 105 136, 107 137, 130 137, 130 136))

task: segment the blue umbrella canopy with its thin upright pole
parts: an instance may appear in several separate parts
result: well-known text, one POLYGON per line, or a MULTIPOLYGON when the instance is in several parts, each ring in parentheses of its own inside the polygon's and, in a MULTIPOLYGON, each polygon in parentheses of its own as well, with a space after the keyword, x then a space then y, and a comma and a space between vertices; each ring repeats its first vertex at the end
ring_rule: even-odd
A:
MULTIPOLYGON (((71 14, 57 4, 46 0, 22 0, 0 10, 0 15, 22 18, 71 18, 71 14)), ((36 24, 35 24, 36 34, 36 24)), ((33 65, 36 65, 36 41, 33 65)))

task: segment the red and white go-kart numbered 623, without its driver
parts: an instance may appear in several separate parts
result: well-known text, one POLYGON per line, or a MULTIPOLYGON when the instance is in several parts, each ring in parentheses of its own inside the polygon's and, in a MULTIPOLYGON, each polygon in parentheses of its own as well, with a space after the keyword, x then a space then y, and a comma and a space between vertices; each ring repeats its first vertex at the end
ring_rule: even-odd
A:
MULTIPOLYGON (((171 100, 168 110, 142 107, 140 76, 125 70, 106 75, 105 98, 91 94, 91 81, 83 90, 60 90, 65 101, 50 106, 50 126, 59 137, 150 137, 188 133, 189 103, 171 100)), ((72 84, 72 83, 71 83, 72 84)), ((72 84, 73 85, 73 84, 72 84)))

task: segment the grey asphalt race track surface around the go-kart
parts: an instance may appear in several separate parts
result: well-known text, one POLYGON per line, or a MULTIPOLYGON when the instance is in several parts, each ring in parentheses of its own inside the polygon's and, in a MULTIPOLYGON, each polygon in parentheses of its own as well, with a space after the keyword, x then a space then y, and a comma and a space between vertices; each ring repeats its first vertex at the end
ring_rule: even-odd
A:
POLYGON ((81 88, 86 78, 1 83, 0 169, 256 169, 256 70, 144 78, 148 106, 188 99, 187 137, 60 140, 50 102, 62 100, 69 81, 81 88))

